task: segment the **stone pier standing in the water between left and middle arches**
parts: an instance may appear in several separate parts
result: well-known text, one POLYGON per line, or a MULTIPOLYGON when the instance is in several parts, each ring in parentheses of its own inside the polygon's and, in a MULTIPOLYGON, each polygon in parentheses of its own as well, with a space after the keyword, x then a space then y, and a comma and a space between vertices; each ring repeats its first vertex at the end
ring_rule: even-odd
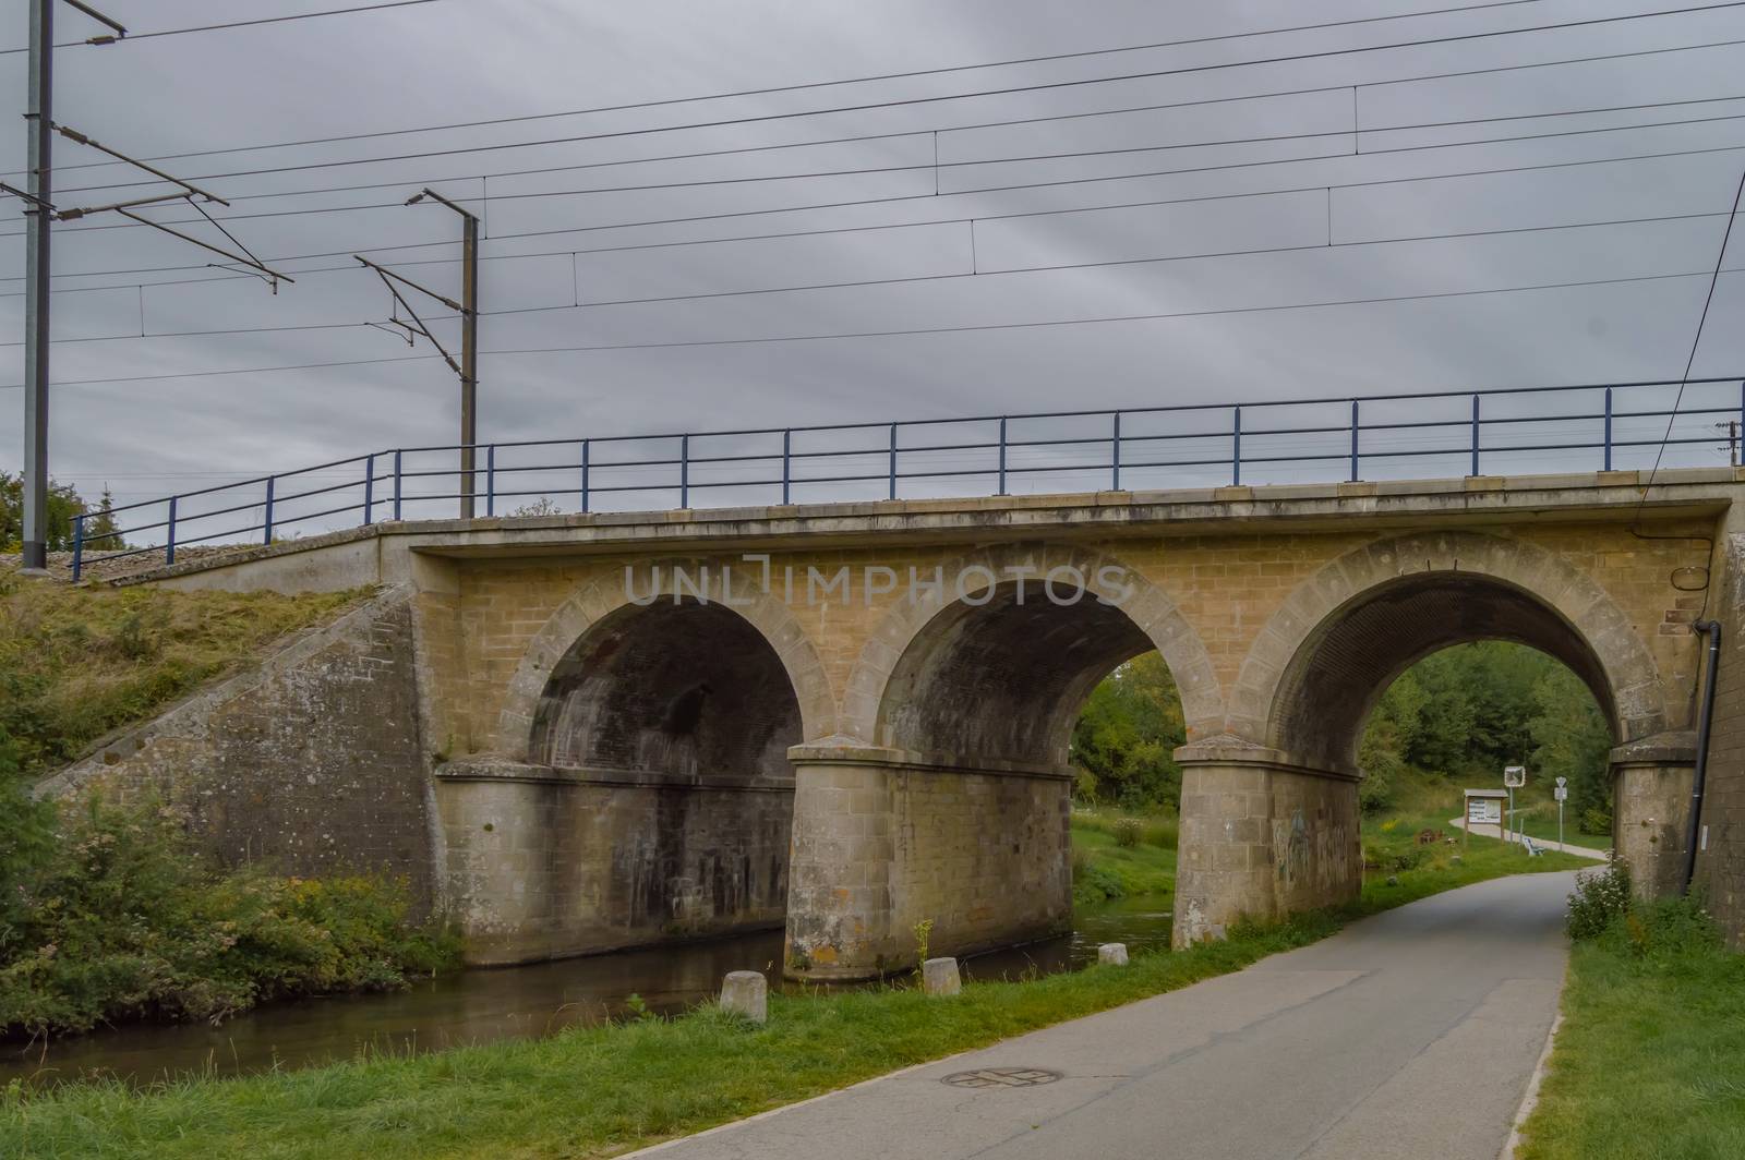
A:
MULTIPOLYGON (((794 850, 790 979, 872 979, 1071 923, 1064 769, 972 768, 883 747, 789 750, 794 850)), ((989 764, 989 762, 982 762, 989 764)))

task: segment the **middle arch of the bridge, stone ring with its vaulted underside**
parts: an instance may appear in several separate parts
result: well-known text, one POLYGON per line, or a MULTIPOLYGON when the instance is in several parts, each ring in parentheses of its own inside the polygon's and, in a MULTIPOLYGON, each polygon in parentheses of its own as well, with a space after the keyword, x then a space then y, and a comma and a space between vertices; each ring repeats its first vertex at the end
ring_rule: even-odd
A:
MULTIPOLYGON (((939 679, 937 672, 925 670, 928 658, 956 649, 963 661, 960 668, 977 663, 1010 665, 1014 663, 1010 656, 1000 661, 988 652, 988 647, 998 651, 1012 645, 1017 645, 1016 663, 1035 665, 1037 670, 1005 675, 1040 677, 1042 686, 1031 701, 1044 706, 1047 717, 1014 722, 1017 731, 1010 738, 986 733, 967 738, 982 745, 1003 740, 1005 745, 993 745, 993 754, 998 757, 1024 761, 1028 754, 1033 761, 1042 757, 1045 748, 1063 748, 1063 745, 1042 745, 1042 738, 1059 738, 1061 720, 1070 733, 1071 717, 1096 680, 1120 661, 1148 649, 1157 649, 1174 675, 1188 736, 1206 729, 1216 731, 1222 724, 1223 694, 1199 633, 1174 600, 1119 558, 1061 544, 1012 544, 967 553, 937 567, 946 577, 944 590, 927 590, 920 598, 897 602, 855 659, 839 717, 839 727, 850 740, 914 748, 916 724, 939 712, 939 705, 928 696, 928 686, 939 679), (1014 569, 1023 569, 1028 577, 1024 586, 1031 612, 1023 618, 1012 607, 1017 590, 1014 569), (1064 579, 1071 574, 1061 572, 1064 569, 1084 577, 1087 598, 1082 609, 1075 605, 1075 616, 1052 616, 1049 609, 1057 614, 1070 614, 1073 609, 1052 605, 1042 590, 1042 577, 1054 572, 1061 577, 1061 588, 1066 588, 1064 579), (955 577, 972 574, 975 581, 967 588, 975 597, 989 595, 984 605, 956 598, 955 577), (995 583, 989 584, 984 577, 995 583), (986 647, 965 644, 972 626, 984 624, 993 616, 988 609, 1005 609, 1010 631, 1003 638, 986 642, 986 647), (1057 658, 1052 649, 1066 652, 1057 658), (897 706, 900 713, 907 713, 907 724, 899 720, 900 713, 893 712, 897 706)), ((925 572, 923 579, 930 576, 925 572)), ((982 693, 993 696, 996 693, 993 682, 982 693)), ((988 708, 989 712, 979 717, 982 726, 965 724, 972 729, 991 726, 1002 708, 995 705, 988 708)), ((1012 708, 1007 705, 1003 712, 1012 708)), ((1049 754, 1037 764, 1064 764, 1064 752, 1049 754)))

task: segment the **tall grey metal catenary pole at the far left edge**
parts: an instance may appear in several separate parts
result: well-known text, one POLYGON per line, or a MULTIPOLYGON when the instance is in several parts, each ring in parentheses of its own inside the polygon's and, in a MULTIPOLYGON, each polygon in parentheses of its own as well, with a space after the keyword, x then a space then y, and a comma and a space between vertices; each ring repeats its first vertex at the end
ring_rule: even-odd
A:
POLYGON ((49 227, 54 222, 54 3, 30 0, 24 199, 24 570, 49 567, 49 227))

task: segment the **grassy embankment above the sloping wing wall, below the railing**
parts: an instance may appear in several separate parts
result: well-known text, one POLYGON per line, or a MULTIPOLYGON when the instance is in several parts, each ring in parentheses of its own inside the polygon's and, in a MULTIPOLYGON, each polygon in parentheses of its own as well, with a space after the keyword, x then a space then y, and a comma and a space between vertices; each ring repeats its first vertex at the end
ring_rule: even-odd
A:
POLYGON ((359 593, 91 590, 0 572, 0 740, 26 773, 80 757, 359 593))

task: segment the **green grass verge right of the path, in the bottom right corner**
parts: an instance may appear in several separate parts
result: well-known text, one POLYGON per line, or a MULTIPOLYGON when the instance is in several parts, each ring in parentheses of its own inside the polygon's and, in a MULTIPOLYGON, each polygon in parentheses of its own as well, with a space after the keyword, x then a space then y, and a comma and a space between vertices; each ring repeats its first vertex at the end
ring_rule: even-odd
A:
POLYGON ((1745 1157, 1745 956, 1712 930, 1668 937, 1656 909, 1625 923, 1570 954, 1564 1026, 1520 1155, 1745 1157))

